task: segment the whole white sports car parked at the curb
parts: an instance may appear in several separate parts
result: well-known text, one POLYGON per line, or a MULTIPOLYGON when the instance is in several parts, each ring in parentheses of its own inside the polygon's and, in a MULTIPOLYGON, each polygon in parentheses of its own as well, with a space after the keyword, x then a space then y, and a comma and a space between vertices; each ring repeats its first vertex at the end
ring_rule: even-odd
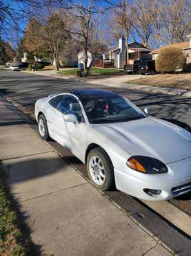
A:
POLYGON ((148 116, 121 95, 79 89, 37 100, 41 138, 50 136, 86 163, 96 188, 146 200, 191 191, 191 134, 148 116))

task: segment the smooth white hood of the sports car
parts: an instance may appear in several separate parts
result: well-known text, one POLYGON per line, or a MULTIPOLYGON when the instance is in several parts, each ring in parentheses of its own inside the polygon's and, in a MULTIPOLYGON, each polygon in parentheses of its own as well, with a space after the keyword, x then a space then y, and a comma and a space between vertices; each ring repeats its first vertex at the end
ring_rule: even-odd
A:
POLYGON ((191 156, 191 134, 157 118, 94 125, 94 129, 132 156, 150 156, 165 164, 191 156))

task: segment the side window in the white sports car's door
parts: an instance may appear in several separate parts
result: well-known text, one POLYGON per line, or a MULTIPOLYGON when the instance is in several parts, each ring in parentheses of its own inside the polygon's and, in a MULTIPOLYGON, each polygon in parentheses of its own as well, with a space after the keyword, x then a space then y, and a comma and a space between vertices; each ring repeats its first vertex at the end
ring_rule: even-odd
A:
POLYGON ((79 122, 84 122, 83 113, 79 101, 71 95, 66 95, 58 104, 58 109, 64 114, 74 114, 79 122))

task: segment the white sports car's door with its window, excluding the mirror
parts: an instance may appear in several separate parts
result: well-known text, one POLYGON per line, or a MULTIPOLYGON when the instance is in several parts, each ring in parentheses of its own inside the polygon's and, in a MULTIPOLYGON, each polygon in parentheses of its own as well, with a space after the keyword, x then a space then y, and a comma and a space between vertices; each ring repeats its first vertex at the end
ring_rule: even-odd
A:
POLYGON ((86 122, 79 101, 72 95, 66 95, 62 98, 61 102, 59 102, 58 109, 63 113, 63 125, 61 125, 60 122, 59 125, 62 127, 59 127, 59 129, 63 129, 63 127, 66 129, 64 137, 65 140, 67 140, 67 147, 75 156, 81 158, 81 143, 83 143, 83 132, 84 127, 86 127, 86 122), (75 124, 74 122, 66 122, 64 120, 64 117, 71 113, 77 116, 77 119, 79 120, 78 124, 75 124))

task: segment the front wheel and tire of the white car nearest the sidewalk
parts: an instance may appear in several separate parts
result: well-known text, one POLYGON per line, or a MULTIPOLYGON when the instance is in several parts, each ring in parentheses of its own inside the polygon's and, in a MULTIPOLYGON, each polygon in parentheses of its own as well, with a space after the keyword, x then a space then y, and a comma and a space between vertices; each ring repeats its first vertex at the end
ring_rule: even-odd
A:
POLYGON ((114 171, 108 154, 101 148, 92 149, 87 158, 90 181, 99 190, 109 190, 114 183, 114 171))

